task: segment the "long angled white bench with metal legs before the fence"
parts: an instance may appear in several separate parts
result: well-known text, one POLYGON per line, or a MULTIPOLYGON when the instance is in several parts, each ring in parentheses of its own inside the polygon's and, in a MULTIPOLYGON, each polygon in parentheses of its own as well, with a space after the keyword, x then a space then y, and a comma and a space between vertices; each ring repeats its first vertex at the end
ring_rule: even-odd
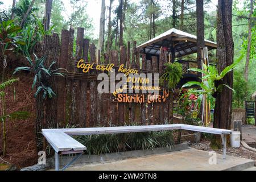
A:
POLYGON ((82 129, 43 129, 42 133, 52 148, 55 150, 55 170, 59 171, 59 155, 63 154, 79 154, 67 166, 75 162, 82 154, 86 147, 71 136, 79 135, 100 135, 100 134, 121 134, 121 133, 139 133, 150 131, 167 131, 167 130, 188 130, 200 133, 209 133, 221 135, 224 146, 223 158, 226 159, 226 135, 232 133, 231 130, 213 129, 209 127, 191 126, 183 124, 175 125, 153 125, 153 126, 122 126, 122 127, 96 127, 82 129))

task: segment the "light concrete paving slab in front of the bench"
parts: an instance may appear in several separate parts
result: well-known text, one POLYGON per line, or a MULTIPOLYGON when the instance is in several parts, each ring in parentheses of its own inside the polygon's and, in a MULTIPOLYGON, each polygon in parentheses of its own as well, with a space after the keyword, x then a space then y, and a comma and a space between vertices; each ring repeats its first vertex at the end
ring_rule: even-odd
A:
POLYGON ((68 168, 68 171, 222 171, 244 170, 254 167, 254 160, 217 155, 217 164, 209 164, 209 152, 190 148, 162 155, 134 158, 117 162, 80 164, 68 168))

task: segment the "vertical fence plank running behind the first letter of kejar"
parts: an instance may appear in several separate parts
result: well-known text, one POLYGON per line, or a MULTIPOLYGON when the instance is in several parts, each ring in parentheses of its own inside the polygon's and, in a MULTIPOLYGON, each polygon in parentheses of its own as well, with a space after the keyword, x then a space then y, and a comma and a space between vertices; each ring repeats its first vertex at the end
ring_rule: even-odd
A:
MULTIPOLYGON (((120 48, 120 65, 126 65, 126 48, 125 46, 121 46, 120 48)), ((118 124, 122 125, 125 123, 125 103, 119 103, 118 104, 118 113, 119 113, 119 119, 118 119, 118 124)))

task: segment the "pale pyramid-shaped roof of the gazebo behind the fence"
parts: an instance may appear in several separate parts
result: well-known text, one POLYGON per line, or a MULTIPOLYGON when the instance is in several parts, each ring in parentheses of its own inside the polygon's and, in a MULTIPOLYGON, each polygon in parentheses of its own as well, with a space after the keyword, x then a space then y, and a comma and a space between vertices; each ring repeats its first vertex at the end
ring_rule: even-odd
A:
MULTIPOLYGON (((196 42, 197 37, 195 35, 172 28, 137 48, 143 49, 146 54, 159 55, 161 47, 168 48, 168 53, 171 53, 171 48, 174 47, 175 57, 181 57, 196 53, 196 42)), ((217 44, 210 40, 205 40, 205 46, 208 47, 208 50, 217 48, 217 44)))

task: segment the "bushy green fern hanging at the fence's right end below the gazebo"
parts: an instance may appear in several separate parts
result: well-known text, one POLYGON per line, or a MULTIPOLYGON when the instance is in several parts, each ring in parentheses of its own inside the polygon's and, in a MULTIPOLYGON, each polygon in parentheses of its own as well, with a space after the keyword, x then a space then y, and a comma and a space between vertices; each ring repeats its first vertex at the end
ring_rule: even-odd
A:
POLYGON ((167 81, 168 88, 175 89, 183 75, 182 65, 175 62, 164 64, 164 66, 166 67, 166 73, 160 78, 160 82, 167 81))

